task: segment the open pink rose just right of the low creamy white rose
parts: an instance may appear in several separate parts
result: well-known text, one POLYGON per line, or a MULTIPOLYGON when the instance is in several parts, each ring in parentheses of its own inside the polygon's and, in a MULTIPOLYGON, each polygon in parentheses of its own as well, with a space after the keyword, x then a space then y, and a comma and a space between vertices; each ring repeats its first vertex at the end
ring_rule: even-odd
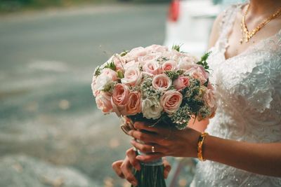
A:
POLYGON ((183 101, 183 95, 175 90, 168 90, 160 97, 160 104, 168 114, 178 111, 183 101))

